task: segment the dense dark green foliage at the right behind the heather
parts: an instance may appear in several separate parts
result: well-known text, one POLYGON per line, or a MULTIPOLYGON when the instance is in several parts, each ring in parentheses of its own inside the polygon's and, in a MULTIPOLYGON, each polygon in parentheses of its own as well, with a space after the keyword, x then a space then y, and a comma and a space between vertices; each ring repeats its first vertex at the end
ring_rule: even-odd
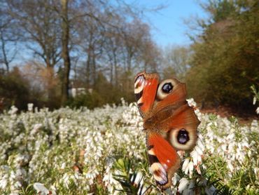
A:
POLYGON ((192 46, 186 80, 192 97, 208 103, 251 108, 250 86, 259 83, 258 1, 210 1, 202 34, 192 46))

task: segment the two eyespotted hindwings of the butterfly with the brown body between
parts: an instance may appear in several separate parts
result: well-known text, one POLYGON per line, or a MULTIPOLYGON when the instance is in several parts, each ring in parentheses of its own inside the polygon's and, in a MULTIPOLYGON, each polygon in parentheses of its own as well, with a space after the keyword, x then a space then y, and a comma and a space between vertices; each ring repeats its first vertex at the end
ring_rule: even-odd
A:
MULTIPOLYGON (((151 123, 167 132, 167 140, 178 150, 193 149, 200 121, 186 101, 186 84, 166 79, 158 86, 151 123)), ((147 120, 148 121, 148 120, 147 120)), ((146 126, 146 123, 145 123, 146 126)))

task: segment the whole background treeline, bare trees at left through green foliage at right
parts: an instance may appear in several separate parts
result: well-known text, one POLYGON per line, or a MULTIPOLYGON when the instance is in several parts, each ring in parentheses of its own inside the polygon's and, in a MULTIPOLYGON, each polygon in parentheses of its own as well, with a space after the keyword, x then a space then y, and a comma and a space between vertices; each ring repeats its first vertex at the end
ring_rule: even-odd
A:
POLYGON ((145 69, 186 81, 190 97, 202 106, 254 110, 259 2, 213 0, 201 6, 209 18, 190 21, 193 43, 160 48, 143 22, 145 8, 137 4, 1 1, 0 109, 25 109, 27 102, 93 108, 121 97, 132 102, 134 75, 145 69), (69 97, 69 88, 85 93, 69 97))

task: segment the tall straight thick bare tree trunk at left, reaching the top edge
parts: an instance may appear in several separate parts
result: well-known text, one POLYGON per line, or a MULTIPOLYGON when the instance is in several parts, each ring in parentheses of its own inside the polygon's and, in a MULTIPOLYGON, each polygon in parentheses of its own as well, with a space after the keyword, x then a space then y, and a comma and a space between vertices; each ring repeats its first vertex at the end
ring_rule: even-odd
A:
POLYGON ((62 78, 61 104, 64 106, 69 96, 69 72, 71 67, 69 57, 69 18, 68 0, 61 0, 62 6, 62 58, 64 60, 64 76, 62 78))

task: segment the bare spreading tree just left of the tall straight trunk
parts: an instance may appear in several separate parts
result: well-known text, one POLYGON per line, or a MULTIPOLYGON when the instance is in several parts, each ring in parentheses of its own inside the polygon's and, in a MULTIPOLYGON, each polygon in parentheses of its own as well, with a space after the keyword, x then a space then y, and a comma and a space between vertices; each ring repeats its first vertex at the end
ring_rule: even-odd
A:
POLYGON ((49 72, 48 98, 52 98, 54 88, 51 85, 55 76, 55 65, 61 59, 59 17, 53 6, 55 1, 29 0, 6 1, 8 13, 18 20, 20 37, 34 56, 45 62, 49 72))

